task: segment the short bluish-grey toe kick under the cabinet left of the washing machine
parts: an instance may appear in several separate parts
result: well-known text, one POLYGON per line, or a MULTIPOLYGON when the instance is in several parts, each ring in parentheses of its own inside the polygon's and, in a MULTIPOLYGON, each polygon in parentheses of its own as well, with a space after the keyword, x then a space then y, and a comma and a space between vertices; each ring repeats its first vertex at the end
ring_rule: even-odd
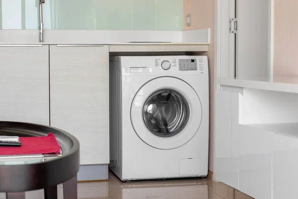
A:
POLYGON ((108 164, 81 165, 77 173, 78 182, 94 182, 109 180, 108 164))

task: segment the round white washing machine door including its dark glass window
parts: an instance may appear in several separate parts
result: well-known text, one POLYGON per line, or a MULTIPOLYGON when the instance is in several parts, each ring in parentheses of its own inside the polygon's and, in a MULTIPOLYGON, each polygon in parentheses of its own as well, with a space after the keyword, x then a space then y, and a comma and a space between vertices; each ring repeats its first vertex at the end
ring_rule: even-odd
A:
POLYGON ((160 77, 146 83, 131 106, 135 132, 158 149, 174 149, 187 143, 197 133, 201 118, 197 93, 174 77, 160 77))

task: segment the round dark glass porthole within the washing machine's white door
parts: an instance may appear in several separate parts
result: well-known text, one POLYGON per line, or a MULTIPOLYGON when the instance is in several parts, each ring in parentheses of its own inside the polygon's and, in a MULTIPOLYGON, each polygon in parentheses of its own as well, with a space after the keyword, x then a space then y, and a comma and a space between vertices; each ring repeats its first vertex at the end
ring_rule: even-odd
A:
POLYGON ((189 106, 178 92, 165 89, 154 92, 145 101, 143 119, 151 133, 171 137, 185 127, 189 119, 189 106))

